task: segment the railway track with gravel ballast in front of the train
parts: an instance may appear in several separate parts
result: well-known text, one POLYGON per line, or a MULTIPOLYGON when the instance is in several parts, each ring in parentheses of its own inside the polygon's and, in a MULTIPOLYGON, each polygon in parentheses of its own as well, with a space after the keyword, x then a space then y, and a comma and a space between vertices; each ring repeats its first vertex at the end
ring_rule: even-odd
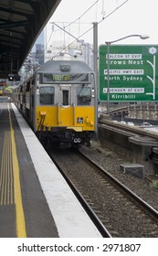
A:
POLYGON ((158 212, 85 155, 49 152, 103 237, 158 237, 158 212))

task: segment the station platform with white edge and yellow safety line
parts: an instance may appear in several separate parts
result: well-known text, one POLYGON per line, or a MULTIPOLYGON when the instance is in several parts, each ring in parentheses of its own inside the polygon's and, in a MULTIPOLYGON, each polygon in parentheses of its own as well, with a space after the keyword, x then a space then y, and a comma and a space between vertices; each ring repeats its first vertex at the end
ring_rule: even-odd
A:
POLYGON ((12 102, 0 102, 0 238, 100 238, 12 102))

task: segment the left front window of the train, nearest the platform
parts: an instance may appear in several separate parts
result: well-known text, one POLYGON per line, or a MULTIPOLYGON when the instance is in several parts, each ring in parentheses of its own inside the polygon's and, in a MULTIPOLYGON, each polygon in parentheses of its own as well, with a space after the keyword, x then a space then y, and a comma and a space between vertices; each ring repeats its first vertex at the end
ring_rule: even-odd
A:
POLYGON ((40 104, 41 105, 50 105, 54 104, 54 87, 40 87, 40 104))

